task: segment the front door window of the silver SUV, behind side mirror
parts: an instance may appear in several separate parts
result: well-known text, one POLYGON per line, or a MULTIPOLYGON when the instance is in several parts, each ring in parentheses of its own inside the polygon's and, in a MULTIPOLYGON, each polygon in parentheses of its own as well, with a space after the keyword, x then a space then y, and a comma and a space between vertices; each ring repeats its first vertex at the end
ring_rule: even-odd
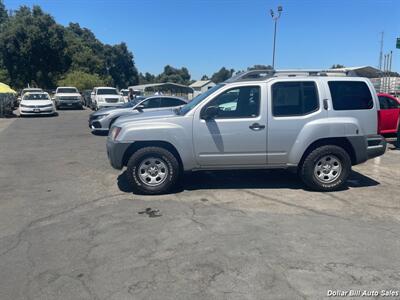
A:
POLYGON ((218 107, 215 119, 254 118, 260 114, 260 87, 244 86, 233 88, 211 100, 204 108, 218 107))

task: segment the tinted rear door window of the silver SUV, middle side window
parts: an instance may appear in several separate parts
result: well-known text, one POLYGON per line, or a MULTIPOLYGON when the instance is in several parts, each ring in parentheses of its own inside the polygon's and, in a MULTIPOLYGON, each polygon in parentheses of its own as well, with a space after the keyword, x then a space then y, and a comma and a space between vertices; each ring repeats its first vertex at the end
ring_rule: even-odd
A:
POLYGON ((315 82, 277 82, 272 86, 272 114, 301 116, 319 108, 315 82))

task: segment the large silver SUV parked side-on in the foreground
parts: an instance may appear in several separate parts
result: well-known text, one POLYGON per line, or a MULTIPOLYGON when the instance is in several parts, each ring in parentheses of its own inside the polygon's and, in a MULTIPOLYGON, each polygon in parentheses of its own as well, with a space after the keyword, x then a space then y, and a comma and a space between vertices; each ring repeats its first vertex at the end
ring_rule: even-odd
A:
POLYGON ((352 74, 250 71, 179 109, 119 118, 107 153, 145 194, 185 171, 262 168, 294 168, 309 188, 333 191, 352 165, 384 154, 378 110, 371 82, 352 74))

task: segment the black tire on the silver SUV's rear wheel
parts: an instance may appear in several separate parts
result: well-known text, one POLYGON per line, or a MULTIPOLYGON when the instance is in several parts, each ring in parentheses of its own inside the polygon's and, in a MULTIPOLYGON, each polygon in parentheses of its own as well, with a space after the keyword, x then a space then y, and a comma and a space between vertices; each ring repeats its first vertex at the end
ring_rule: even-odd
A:
MULTIPOLYGON (((325 167, 325 165, 319 166, 321 168, 325 167)), ((299 168, 299 176, 305 185, 312 190, 322 192, 331 192, 342 189, 346 184, 346 180, 349 177, 350 172, 351 159, 349 154, 343 148, 335 145, 321 146, 314 149, 307 155, 299 168), (325 158, 328 161, 329 157, 331 157, 330 159, 333 158, 335 163, 339 164, 340 172, 336 171, 336 174, 334 174, 335 171, 332 168, 333 164, 331 167, 326 167, 324 171, 317 170, 317 164, 320 164, 325 158), (326 174, 326 176, 324 173, 325 171, 329 172, 329 174, 326 174), (332 176, 333 178, 329 178, 328 175, 332 176)))

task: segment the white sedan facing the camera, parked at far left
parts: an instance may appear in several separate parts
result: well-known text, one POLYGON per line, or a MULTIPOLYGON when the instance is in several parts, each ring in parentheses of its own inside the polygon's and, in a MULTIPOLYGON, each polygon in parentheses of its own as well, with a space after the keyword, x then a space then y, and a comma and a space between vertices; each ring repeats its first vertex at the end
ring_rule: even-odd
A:
POLYGON ((25 93, 19 104, 20 116, 54 115, 56 108, 48 93, 25 93))

